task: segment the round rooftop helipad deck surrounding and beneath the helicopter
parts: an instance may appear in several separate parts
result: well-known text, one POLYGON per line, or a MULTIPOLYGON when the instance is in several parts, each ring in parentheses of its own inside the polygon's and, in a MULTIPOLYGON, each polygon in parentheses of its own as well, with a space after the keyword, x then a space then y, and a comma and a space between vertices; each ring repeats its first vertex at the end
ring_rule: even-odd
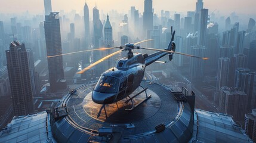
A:
MULTIPOLYGON (((95 83, 91 83, 82 86, 67 101, 70 119, 87 130, 112 127, 113 130, 122 132, 122 136, 139 135, 152 132, 155 126, 161 123, 170 123, 180 110, 169 89, 156 83, 141 82, 144 88, 149 88, 147 95, 152 97, 131 111, 125 110, 132 107, 131 102, 125 104, 125 98, 114 104, 95 104, 91 100, 94 85, 95 83), (134 125, 134 128, 129 128, 130 124, 134 125)), ((142 88, 138 88, 134 94, 141 90, 142 88)), ((145 92, 134 98, 134 104, 138 104, 144 98, 145 92)))

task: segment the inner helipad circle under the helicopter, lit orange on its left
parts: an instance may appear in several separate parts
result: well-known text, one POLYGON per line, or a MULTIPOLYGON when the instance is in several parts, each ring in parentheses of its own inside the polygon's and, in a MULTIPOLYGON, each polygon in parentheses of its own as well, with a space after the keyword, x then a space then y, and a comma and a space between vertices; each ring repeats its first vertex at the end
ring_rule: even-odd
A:
MULTIPOLYGON (((136 89, 133 94, 135 95, 139 91, 141 91, 141 88, 136 89)), ((109 124, 134 123, 148 119, 158 112, 161 107, 161 99, 155 92, 148 89, 147 94, 152 95, 152 97, 131 111, 127 111, 132 107, 132 104, 131 102, 126 104, 126 99, 107 105, 95 104, 91 100, 91 92, 86 95, 82 105, 88 116, 100 122, 109 124)), ((146 98, 145 92, 134 98, 134 105, 137 105, 144 98, 146 98)))

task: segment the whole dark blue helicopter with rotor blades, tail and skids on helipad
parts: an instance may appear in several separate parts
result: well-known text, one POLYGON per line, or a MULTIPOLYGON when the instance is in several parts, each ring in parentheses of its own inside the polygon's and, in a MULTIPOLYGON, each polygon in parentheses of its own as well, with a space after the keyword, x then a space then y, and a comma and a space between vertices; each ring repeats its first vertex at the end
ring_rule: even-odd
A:
MULTIPOLYGON (((143 88, 143 91, 139 92, 138 94, 130 97, 132 92, 135 91, 140 86, 141 81, 144 77, 144 72, 146 67, 154 62, 158 62, 158 60, 165 55, 169 56, 169 61, 172 60, 173 54, 181 54, 195 58, 201 58, 202 60, 207 60, 208 58, 204 57, 197 57, 195 55, 184 54, 181 52, 175 52, 175 42, 174 42, 174 35, 175 30, 172 32, 171 27, 171 41, 166 49, 154 49, 154 48, 146 48, 141 46, 136 46, 139 43, 151 41, 152 39, 137 42, 137 43, 126 43, 124 46, 112 47, 112 48, 100 48, 100 49, 90 49, 86 51, 80 52, 87 52, 87 51, 95 51, 95 50, 105 50, 105 49, 120 49, 119 51, 113 52, 112 54, 107 55, 106 57, 101 58, 100 60, 92 63, 90 66, 86 67, 85 69, 79 71, 79 74, 84 73, 85 71, 91 69, 95 65, 101 63, 104 60, 112 57, 113 55, 119 54, 122 51, 128 51, 127 57, 119 59, 116 64, 116 67, 113 67, 109 70, 106 70, 103 74, 101 74, 98 82, 96 83, 93 91, 92 91, 92 101, 97 104, 112 104, 118 102, 124 98, 129 98, 125 103, 129 101, 132 102, 132 99, 137 97, 142 92, 146 92, 147 88, 143 88), (133 49, 149 49, 152 51, 158 51, 153 54, 141 54, 141 53, 133 53, 133 49)), ((75 54, 73 52, 71 54, 75 54)), ((70 53, 69 53, 70 54, 70 53)), ((65 54, 62 54, 65 55, 65 54)), ((58 55, 55 55, 58 56, 58 55)), ((51 56, 51 57, 55 57, 51 56)), ((146 98, 141 101, 144 102, 150 98, 151 95, 147 96, 146 98)), ((141 104, 138 103, 138 104, 141 104)), ((132 108, 135 108, 132 102, 132 108)))

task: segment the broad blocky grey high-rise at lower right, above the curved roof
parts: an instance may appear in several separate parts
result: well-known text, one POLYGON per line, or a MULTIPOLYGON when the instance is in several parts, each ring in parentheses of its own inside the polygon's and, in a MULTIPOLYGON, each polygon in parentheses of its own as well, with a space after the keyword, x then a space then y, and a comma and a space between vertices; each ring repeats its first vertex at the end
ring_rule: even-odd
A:
POLYGON ((248 96, 245 92, 223 86, 220 91, 220 113, 230 114, 236 121, 245 119, 248 96))

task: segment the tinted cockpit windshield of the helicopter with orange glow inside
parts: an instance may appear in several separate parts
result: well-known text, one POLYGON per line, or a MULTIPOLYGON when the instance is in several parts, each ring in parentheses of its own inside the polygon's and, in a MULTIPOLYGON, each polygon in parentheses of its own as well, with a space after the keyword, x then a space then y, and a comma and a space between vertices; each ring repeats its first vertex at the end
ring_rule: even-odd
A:
POLYGON ((110 76, 100 76, 94 91, 106 94, 115 94, 118 92, 118 86, 119 79, 110 76))

